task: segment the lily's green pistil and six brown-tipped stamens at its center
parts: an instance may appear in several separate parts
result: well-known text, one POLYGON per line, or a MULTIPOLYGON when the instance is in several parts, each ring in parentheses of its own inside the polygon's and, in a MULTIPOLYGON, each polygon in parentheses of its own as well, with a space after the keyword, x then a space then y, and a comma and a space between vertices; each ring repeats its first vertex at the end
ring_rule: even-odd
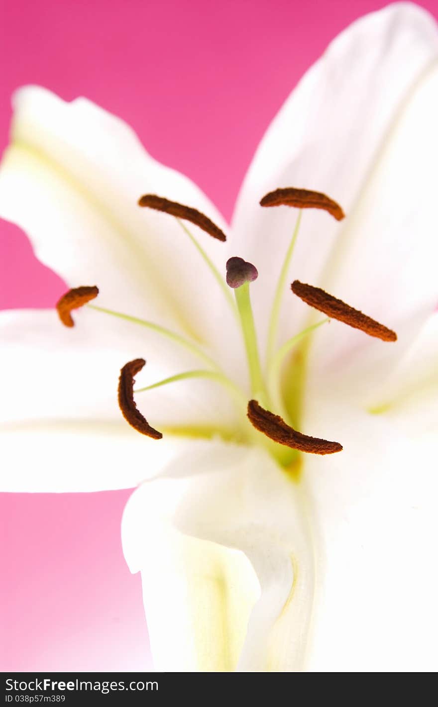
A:
MULTIPOLYGON (((139 433, 156 440, 161 439, 163 434, 152 427, 139 409, 137 409, 137 405, 134 402, 134 392, 146 392, 147 390, 152 390, 153 388, 161 387, 163 385, 169 385, 178 380, 207 378, 224 385, 224 387, 226 387, 229 391, 241 413, 243 440, 246 442, 251 441, 253 443, 265 445, 265 447, 267 447, 270 453, 272 453, 272 455, 280 464, 282 464, 282 466, 290 468, 292 464, 296 462, 299 452, 320 455, 340 452, 342 450, 342 445, 340 445, 340 443, 304 435, 303 433, 296 431, 289 424, 289 422, 292 421, 291 417, 295 417, 295 415, 290 414, 290 411, 291 409, 297 409, 298 405, 295 404, 294 406, 294 404, 291 404, 289 400, 287 401, 287 406, 285 405, 286 400, 281 385, 282 368, 287 356, 289 356, 289 354, 296 349, 296 346, 299 342, 301 342, 301 339, 304 339, 304 337, 309 337, 309 334, 313 333, 325 322, 328 322, 328 319, 321 320, 317 324, 307 327, 292 337, 292 339, 286 341, 279 348, 276 346, 280 305, 282 303, 282 297, 286 286, 289 264, 299 232, 302 209, 324 209, 337 221, 340 221, 344 218, 344 212, 339 204, 333 201, 333 199, 327 197, 325 194, 321 194, 321 192, 311 192, 308 189, 295 189, 292 187, 287 187, 286 189, 276 189, 274 192, 269 192, 260 201, 260 205, 265 207, 293 206, 299 208, 299 216, 296 220, 296 226, 292 235, 291 243, 284 257, 284 262, 277 282, 275 297, 272 303, 267 337, 267 363, 264 370, 260 363, 258 338, 255 329, 253 310, 250 303, 250 284, 258 277, 258 270, 256 267, 252 263, 246 262, 241 257, 231 257, 226 262, 226 279, 224 279, 222 274, 214 266, 211 259, 209 259, 200 243, 198 243, 195 236, 192 235, 184 223, 184 221, 194 223, 195 226, 204 230, 204 232, 212 236, 212 238, 222 242, 225 241, 226 236, 222 230, 218 228, 218 226, 216 226, 216 224, 214 224, 207 216, 190 206, 178 204, 176 201, 169 201, 168 199, 158 197, 155 194, 145 194, 139 199, 138 203, 139 206, 148 207, 150 209, 162 211, 165 214, 174 216, 181 228, 183 228, 185 234, 188 235, 188 238, 190 238, 193 245, 195 245, 197 250, 200 252, 200 255, 202 255, 206 266, 210 269, 210 271, 212 271, 214 278, 217 279, 228 305, 233 309, 234 314, 238 318, 238 322, 241 326, 248 363, 252 397, 248 402, 248 397, 246 397, 246 394, 241 387, 226 375, 224 370, 222 370, 217 362, 214 361, 214 359, 209 356, 204 349, 202 349, 200 344, 192 341, 192 339, 185 338, 182 335, 171 331, 171 329, 166 329, 166 327, 161 327, 161 325, 156 324, 156 322, 149 322, 139 319, 138 317, 131 317, 122 312, 115 312, 114 310, 108 310, 97 305, 88 304, 98 295, 98 288, 96 286, 81 286, 71 289, 57 303, 59 318, 65 326, 74 326, 74 321, 71 317, 71 310, 88 304, 89 308, 92 308, 98 312, 103 312, 107 315, 115 317, 121 317, 122 319, 128 320, 134 324, 153 329, 155 332, 159 332, 159 334, 163 337, 167 337, 174 343, 189 349, 192 354, 195 354, 195 356, 200 358, 204 365, 207 366, 207 368, 177 373, 164 380, 160 380, 134 391, 134 376, 142 370, 146 361, 144 361, 144 358, 136 358, 133 361, 126 363, 120 371, 118 402, 122 415, 125 417, 125 420, 129 423, 129 425, 131 425, 139 433), (230 288, 234 290, 235 299, 231 296, 230 288), (287 410, 289 410, 289 414, 287 410), (278 413, 280 413, 281 416, 278 413)), ((324 312, 330 318, 340 320, 341 322, 344 322, 351 327, 355 327, 356 329, 361 329, 366 334, 369 334, 369 336, 379 337, 379 339, 382 339, 383 341, 396 341, 397 339, 396 333, 391 329, 381 325, 379 322, 376 322, 376 320, 371 319, 371 317, 364 315, 359 310, 350 307, 350 305, 342 302, 342 300, 338 300, 332 295, 326 293, 321 290, 321 288, 303 284, 300 281, 295 280, 291 285, 291 289, 292 293, 299 296, 299 298, 301 298, 301 300, 305 303, 321 312, 324 312)), ((299 399, 301 393, 299 389, 302 387, 305 377, 303 357, 304 351, 301 347, 298 351, 298 358, 295 362, 296 389, 290 391, 292 392, 292 397, 294 397, 296 401, 299 399)), ((294 419, 293 423, 296 424, 297 421, 294 419)), ((177 433, 178 431, 173 428, 172 432, 177 433)), ((214 434, 219 434, 219 436, 223 436, 224 438, 230 438, 228 433, 224 434, 223 431, 218 429, 214 429, 211 432, 212 436, 214 434)), ((196 428, 190 428, 190 432, 186 428, 185 433, 190 433, 190 436, 204 436, 204 434, 201 434, 200 430, 197 431, 196 428)), ((233 438, 232 434, 231 438, 233 438)), ((239 436, 236 434, 236 438, 241 438, 241 435, 239 436)))

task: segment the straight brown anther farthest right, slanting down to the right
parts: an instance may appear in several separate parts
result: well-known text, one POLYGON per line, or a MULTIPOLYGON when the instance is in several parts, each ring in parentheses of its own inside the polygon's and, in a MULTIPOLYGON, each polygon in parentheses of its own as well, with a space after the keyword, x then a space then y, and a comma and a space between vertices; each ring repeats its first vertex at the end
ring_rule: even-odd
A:
POLYGON ((291 289, 301 300, 320 312, 324 312, 328 317, 338 319, 340 322, 344 322, 344 324, 355 329, 361 329, 362 332, 369 334, 370 337, 376 337, 382 341, 397 341, 397 334, 392 329, 384 327, 383 324, 379 324, 376 320, 367 317, 367 315, 355 310, 350 305, 342 302, 342 300, 336 299, 333 295, 329 295, 319 287, 305 285, 299 280, 295 280, 291 285, 291 289))

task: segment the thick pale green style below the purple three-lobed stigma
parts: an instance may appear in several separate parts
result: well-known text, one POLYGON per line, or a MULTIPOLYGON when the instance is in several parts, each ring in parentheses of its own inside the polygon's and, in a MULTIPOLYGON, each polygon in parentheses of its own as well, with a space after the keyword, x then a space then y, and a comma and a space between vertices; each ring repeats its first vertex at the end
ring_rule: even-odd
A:
POLYGON ((249 294, 249 282, 244 282, 234 290, 238 313, 241 319, 243 341, 245 342, 246 357, 250 373, 251 391, 258 402, 268 404, 268 395, 263 380, 260 356, 258 354, 257 334, 255 333, 253 309, 249 294))

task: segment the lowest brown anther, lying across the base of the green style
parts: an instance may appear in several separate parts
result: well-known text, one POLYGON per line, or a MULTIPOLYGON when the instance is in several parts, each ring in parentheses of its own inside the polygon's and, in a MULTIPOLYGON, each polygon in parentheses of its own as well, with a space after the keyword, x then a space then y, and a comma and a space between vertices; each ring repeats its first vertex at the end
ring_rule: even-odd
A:
POLYGON ((260 407, 257 400, 248 402, 248 419, 256 430, 263 432, 270 439, 300 452, 310 454, 342 452, 342 445, 338 442, 328 442, 328 440, 308 437, 301 432, 296 432, 284 422, 282 417, 260 407))

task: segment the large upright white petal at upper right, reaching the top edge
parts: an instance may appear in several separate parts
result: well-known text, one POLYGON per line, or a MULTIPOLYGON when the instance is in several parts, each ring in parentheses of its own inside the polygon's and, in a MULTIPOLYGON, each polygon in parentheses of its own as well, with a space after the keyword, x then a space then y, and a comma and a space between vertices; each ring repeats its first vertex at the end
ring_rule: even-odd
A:
MULTIPOLYGON (((437 56, 433 18, 412 4, 388 6, 328 47, 271 124, 234 218, 240 255, 259 267, 253 294, 265 327, 296 218, 285 206, 258 206, 276 187, 325 192, 347 214, 338 223, 304 212, 291 280, 331 288, 397 330, 407 320, 420 327, 434 307, 437 56)), ((281 339, 301 328, 305 315, 305 305, 285 292, 281 339)), ((363 335, 344 327, 338 336, 330 356, 341 346, 354 350, 363 335)))

